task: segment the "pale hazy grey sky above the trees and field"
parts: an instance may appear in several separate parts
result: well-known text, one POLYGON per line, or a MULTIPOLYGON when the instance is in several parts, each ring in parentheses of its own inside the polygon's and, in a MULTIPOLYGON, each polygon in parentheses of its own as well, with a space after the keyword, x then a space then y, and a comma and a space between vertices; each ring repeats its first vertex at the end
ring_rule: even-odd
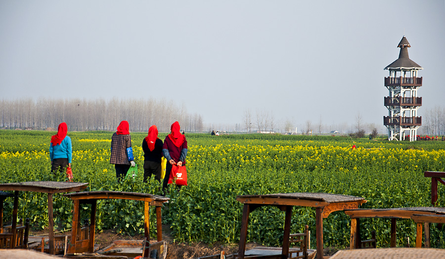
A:
POLYGON ((403 35, 424 68, 422 116, 444 107, 444 0, 1 0, 0 94, 173 99, 207 124, 359 112, 383 128, 403 35))

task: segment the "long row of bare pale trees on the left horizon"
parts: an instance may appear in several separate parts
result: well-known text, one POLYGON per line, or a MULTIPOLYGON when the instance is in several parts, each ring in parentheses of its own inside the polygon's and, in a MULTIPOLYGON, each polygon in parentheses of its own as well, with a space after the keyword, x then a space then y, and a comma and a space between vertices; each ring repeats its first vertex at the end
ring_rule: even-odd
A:
POLYGON ((173 100, 143 99, 54 99, 22 98, 0 101, 0 128, 6 129, 57 129, 61 122, 69 131, 116 130, 126 120, 130 131, 148 131, 156 125, 159 132, 169 132, 175 121, 181 130, 201 132, 202 116, 189 114, 184 105, 173 100))

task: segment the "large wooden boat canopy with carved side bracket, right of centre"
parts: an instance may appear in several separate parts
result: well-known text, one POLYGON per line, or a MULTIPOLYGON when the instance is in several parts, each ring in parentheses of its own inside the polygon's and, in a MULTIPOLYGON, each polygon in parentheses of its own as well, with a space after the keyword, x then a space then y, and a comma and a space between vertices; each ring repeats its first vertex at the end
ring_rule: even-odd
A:
POLYGON ((241 221, 238 259, 244 259, 246 248, 247 224, 249 214, 262 206, 275 206, 285 211, 282 252, 279 257, 287 258, 289 253, 289 235, 293 206, 315 208, 317 258, 323 258, 323 218, 335 211, 357 209, 366 200, 361 197, 330 193, 277 193, 266 195, 241 195, 236 200, 244 204, 241 221))

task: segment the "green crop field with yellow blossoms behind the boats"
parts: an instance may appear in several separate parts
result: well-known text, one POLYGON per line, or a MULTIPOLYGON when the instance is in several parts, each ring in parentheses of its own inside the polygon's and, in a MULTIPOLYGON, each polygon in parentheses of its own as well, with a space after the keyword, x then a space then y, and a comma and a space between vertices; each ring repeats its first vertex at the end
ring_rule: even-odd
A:
MULTIPOLYGON (((49 141, 55 132, 0 130, 0 182, 56 180, 64 175, 49 173, 49 141)), ((86 190, 134 191, 160 194, 153 179, 142 182, 146 133, 132 133, 135 179, 119 183, 109 163, 112 132, 68 132, 73 143, 75 181, 88 182, 86 190)), ((160 134, 164 139, 166 134, 160 134)), ((368 202, 361 208, 431 206, 431 179, 424 171, 444 171, 445 141, 388 142, 353 140, 342 136, 186 134, 188 186, 171 190, 171 202, 163 210, 163 223, 170 224, 177 242, 237 243, 242 204, 237 195, 289 192, 324 192, 354 195, 368 202)), ((10 199, 10 198, 9 198, 10 199)), ((11 217, 12 200, 5 202, 4 218, 11 217)), ((29 217, 34 229, 47 227, 46 195, 20 193, 19 217, 29 217)), ((439 186, 438 206, 445 203, 445 186, 439 186)), ((85 206, 84 210, 89 210, 85 206)), ((155 233, 155 216, 150 217, 155 233)), ((55 226, 71 228, 72 203, 54 195, 55 226)), ((324 245, 347 247, 350 218, 335 212, 323 220, 324 245)), ((279 246, 284 213, 260 208, 250 216, 248 241, 279 246)), ((377 246, 389 247, 390 220, 363 219, 362 239, 376 231, 377 246)), ((291 232, 308 224, 315 240, 315 210, 295 208, 291 232)), ((143 205, 132 201, 99 201, 97 229, 136 234, 143 231, 143 205)), ((398 246, 415 239, 412 220, 399 220, 398 246)), ((443 229, 430 226, 431 246, 445 248, 443 229)), ((315 242, 312 242, 312 248, 315 242)))

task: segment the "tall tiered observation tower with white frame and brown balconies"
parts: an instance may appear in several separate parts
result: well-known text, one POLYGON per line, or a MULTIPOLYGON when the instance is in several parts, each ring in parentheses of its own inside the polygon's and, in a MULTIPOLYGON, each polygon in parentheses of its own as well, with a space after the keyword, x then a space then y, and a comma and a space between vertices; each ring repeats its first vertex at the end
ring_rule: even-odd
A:
POLYGON ((389 77, 385 78, 389 96, 385 97, 388 116, 383 117, 383 125, 388 129, 389 140, 403 140, 408 131, 409 141, 415 141, 422 125, 422 117, 417 116, 417 109, 422 106, 422 97, 417 97, 422 77, 417 77, 417 71, 423 68, 409 59, 410 46, 403 36, 398 45, 399 58, 385 68, 389 70, 389 77))

